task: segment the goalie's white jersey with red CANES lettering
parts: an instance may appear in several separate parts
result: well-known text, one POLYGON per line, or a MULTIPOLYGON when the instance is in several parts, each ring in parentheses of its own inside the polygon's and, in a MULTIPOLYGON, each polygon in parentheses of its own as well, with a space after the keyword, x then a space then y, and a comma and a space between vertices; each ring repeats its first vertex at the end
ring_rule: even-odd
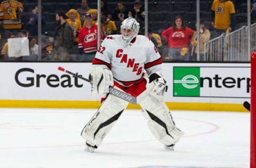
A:
POLYGON ((138 35, 131 44, 125 45, 122 35, 105 38, 92 62, 107 66, 113 72, 116 82, 131 86, 142 80, 144 70, 147 74, 162 71, 162 58, 157 48, 146 36, 138 35))

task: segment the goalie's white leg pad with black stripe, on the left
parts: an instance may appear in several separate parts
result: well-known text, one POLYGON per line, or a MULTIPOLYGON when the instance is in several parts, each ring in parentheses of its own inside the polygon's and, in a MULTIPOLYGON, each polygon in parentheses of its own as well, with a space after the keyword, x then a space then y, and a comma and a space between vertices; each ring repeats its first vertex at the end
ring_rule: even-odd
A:
POLYGON ((86 139, 86 143, 97 148, 127 105, 128 102, 125 100, 108 95, 97 113, 95 113, 82 130, 81 136, 86 139))

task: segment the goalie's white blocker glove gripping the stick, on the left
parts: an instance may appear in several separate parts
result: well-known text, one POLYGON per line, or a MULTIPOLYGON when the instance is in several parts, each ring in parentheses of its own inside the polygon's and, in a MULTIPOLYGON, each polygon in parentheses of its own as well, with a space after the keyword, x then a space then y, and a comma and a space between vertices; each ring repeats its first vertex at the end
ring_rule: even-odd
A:
POLYGON ((89 80, 92 84, 92 94, 106 97, 109 93, 109 86, 114 86, 113 73, 102 66, 96 66, 91 69, 89 80))

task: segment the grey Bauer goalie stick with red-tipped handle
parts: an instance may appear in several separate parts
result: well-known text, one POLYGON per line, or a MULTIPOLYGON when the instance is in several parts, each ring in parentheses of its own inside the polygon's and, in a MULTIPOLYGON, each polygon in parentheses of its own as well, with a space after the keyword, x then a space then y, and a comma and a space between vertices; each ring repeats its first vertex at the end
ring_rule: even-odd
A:
MULTIPOLYGON (((82 79, 82 80, 84 80, 86 82, 90 82, 91 83, 91 81, 89 79, 84 78, 82 75, 78 75, 78 73, 70 72, 70 71, 62 68, 61 66, 59 66, 58 70, 60 70, 62 72, 66 72, 68 74, 71 74, 75 78, 79 78, 79 79, 82 79)), ((137 104, 137 98, 136 97, 133 97, 133 96, 131 96, 129 94, 126 94, 123 91, 118 90, 118 89, 116 89, 114 87, 111 87, 111 86, 109 87, 109 94, 114 95, 114 96, 116 96, 118 98, 121 98, 121 99, 123 99, 123 100, 125 100, 127 102, 132 103, 132 104, 137 104)))

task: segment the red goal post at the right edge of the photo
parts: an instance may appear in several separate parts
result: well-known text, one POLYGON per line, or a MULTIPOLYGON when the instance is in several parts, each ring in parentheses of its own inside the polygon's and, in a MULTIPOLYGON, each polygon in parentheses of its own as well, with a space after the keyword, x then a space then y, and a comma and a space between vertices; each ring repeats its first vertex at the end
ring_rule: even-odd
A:
POLYGON ((251 54, 251 168, 256 168, 256 52, 251 54))

